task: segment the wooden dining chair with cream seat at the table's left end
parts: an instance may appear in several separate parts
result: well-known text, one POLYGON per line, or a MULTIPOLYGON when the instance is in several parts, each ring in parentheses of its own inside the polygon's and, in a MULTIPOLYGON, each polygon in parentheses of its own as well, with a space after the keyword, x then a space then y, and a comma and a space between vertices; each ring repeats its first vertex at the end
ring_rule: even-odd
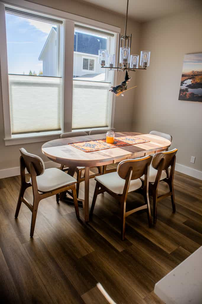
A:
POLYGON ((23 202, 32 212, 30 237, 33 237, 35 221, 38 210, 38 204, 41 199, 56 195, 56 201, 59 203, 59 193, 71 190, 75 205, 76 216, 79 219, 78 202, 76 195, 76 179, 62 172, 57 168, 45 169, 41 157, 28 153, 24 148, 20 149, 20 176, 21 187, 18 203, 15 211, 15 218, 18 217, 21 203, 23 202), (31 175, 29 182, 25 180, 25 168, 31 175), (31 204, 24 198, 25 190, 32 187, 33 203, 31 204))

